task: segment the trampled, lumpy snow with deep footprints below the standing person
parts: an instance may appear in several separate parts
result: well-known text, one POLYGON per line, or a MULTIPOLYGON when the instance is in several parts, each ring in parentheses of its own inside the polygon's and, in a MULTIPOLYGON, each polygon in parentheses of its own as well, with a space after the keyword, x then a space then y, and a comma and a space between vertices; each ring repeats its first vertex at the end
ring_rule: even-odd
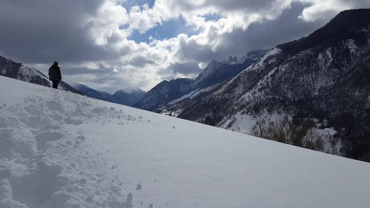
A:
POLYGON ((132 207, 127 193, 111 191, 120 181, 102 171, 105 160, 82 153, 85 136, 66 128, 118 111, 73 93, 49 95, 27 96, 0 113, 0 207, 132 207))

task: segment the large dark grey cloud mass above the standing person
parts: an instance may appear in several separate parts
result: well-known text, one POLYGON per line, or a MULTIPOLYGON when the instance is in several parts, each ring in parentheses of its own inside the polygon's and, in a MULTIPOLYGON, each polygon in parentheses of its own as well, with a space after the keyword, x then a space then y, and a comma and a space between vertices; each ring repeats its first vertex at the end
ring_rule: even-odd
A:
POLYGON ((96 15, 102 2, 2 0, 0 53, 25 63, 117 58, 94 46, 87 36, 89 28, 80 27, 96 15))

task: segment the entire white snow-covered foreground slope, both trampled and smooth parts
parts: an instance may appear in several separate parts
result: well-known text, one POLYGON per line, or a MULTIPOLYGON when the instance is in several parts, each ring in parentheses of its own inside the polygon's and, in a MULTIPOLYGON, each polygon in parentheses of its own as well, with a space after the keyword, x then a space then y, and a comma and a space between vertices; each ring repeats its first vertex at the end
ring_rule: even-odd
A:
POLYGON ((3 76, 0 89, 1 208, 370 204, 366 162, 3 76))

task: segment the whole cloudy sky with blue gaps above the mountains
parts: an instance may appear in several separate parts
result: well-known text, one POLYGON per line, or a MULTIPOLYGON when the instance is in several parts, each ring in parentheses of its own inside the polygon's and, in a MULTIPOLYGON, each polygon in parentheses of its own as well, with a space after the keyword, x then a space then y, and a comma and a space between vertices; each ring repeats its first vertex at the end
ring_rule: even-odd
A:
POLYGON ((0 56, 113 91, 196 77, 272 48, 370 0, 1 0, 0 56))

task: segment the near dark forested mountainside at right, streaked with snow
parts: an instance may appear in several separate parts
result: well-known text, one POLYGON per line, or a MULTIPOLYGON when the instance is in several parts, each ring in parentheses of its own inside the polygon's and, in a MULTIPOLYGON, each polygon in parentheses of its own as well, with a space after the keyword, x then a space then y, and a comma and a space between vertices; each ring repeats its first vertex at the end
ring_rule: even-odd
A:
POLYGON ((249 117, 261 124, 252 131, 268 137, 270 116, 286 115, 282 127, 292 128, 279 132, 282 142, 301 146, 289 136, 304 123, 332 127, 343 156, 370 161, 369 31, 369 9, 343 11, 309 36, 276 46, 178 117, 228 129, 249 117))

